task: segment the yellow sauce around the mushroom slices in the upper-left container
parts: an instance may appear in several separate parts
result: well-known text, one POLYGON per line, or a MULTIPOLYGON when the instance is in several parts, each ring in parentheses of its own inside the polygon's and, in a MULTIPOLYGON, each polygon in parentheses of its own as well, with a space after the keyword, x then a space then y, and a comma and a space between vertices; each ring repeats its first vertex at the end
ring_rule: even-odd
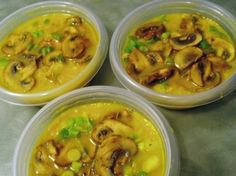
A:
POLYGON ((31 88, 22 88, 19 85, 20 83, 17 82, 18 80, 12 80, 10 81, 11 83, 6 81, 5 77, 8 74, 5 71, 6 64, 4 66, 0 64, 0 86, 13 92, 36 93, 54 89, 78 76, 96 53, 99 38, 94 27, 83 18, 81 18, 81 24, 79 25, 69 24, 67 20, 72 17, 74 16, 66 13, 54 13, 35 17, 17 26, 9 36, 22 33, 30 33, 32 36, 32 41, 27 43, 27 48, 17 54, 5 53, 2 49, 8 43, 9 36, 1 41, 0 60, 4 58, 8 60, 8 64, 17 60, 26 62, 27 65, 27 59, 22 58, 24 54, 37 55, 41 59, 37 59, 37 68, 30 76, 35 80, 31 88), (71 30, 71 34, 65 32, 67 29, 71 30), (62 45, 69 35, 77 35, 86 40, 87 46, 86 51, 82 54, 83 56, 68 57, 64 55, 62 45), (43 41, 45 44, 43 44, 43 41), (46 46, 50 46, 53 49, 45 54, 42 52, 42 48, 46 46), (57 51, 61 53, 63 62, 51 62, 51 64, 47 65, 42 61, 50 53, 57 51), (90 57, 91 59, 80 62, 85 57, 90 57))

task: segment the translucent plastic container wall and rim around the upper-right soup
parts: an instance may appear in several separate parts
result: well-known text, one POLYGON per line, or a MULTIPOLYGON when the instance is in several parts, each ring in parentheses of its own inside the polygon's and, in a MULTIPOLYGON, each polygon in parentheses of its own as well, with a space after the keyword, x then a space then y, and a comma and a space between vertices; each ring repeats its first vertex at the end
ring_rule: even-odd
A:
POLYGON ((122 67, 121 52, 125 39, 132 29, 155 16, 168 13, 199 13, 221 24, 236 42, 236 19, 218 5, 199 0, 153 1, 138 7, 128 14, 116 28, 110 44, 110 62, 116 78, 126 88, 142 95, 151 102, 173 109, 196 107, 216 101, 236 88, 235 73, 219 86, 209 91, 191 95, 170 95, 155 92, 133 80, 122 67))

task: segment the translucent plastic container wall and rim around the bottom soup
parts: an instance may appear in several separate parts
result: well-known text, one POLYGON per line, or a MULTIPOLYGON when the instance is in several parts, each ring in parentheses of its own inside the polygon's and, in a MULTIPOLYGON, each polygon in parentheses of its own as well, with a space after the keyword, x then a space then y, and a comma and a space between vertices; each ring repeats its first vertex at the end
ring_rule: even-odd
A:
POLYGON ((144 98, 128 90, 91 86, 72 91, 44 106, 27 124, 19 138, 13 159, 13 176, 28 175, 30 155, 38 136, 56 114, 72 107, 76 103, 111 100, 132 107, 143 113, 159 129, 166 148, 166 176, 179 173, 179 157, 174 132, 161 112, 144 98))

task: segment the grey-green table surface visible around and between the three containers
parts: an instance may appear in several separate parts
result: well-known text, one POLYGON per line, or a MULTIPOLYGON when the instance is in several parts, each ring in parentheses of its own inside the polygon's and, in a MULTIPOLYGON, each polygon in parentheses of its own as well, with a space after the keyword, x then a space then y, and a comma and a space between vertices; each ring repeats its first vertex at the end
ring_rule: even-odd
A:
MULTIPOLYGON (((0 19, 37 0, 0 0, 0 19)), ((111 37, 117 24, 131 10, 148 0, 71 0, 96 13, 111 37)), ((236 16, 236 1, 212 0, 236 16)), ((91 85, 122 87, 115 79, 109 58, 91 85), (101 79, 102 78, 102 79, 101 79)), ((224 99, 189 110, 160 108, 178 140, 181 176, 236 175, 236 92, 224 99)), ((0 176, 10 176, 17 140, 40 107, 21 107, 0 101, 0 176)))

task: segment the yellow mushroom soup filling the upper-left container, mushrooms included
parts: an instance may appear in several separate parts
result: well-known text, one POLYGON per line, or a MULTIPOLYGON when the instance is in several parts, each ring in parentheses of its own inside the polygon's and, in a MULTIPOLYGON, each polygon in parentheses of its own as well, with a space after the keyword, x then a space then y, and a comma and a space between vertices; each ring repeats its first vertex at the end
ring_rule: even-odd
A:
POLYGON ((30 19, 0 42, 0 86, 18 93, 56 88, 88 65, 98 40, 94 27, 79 16, 30 19))

